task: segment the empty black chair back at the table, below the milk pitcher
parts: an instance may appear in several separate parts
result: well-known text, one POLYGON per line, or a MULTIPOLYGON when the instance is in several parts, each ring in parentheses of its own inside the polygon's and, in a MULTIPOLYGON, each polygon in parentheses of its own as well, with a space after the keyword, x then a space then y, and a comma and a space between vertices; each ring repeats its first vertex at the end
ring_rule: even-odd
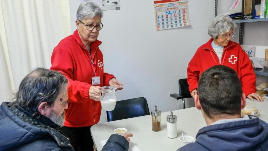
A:
POLYGON ((147 100, 143 97, 117 101, 115 110, 106 111, 107 121, 150 115, 147 100))

